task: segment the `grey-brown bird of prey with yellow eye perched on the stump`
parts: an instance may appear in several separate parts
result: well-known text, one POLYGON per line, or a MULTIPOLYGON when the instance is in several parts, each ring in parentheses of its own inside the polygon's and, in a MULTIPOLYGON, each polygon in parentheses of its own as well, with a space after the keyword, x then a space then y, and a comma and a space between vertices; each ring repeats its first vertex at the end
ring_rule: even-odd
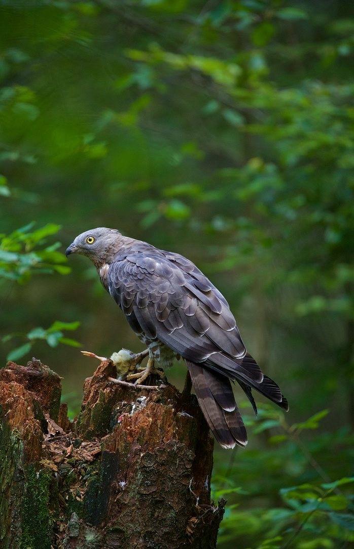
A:
POLYGON ((225 448, 247 444, 230 380, 241 385, 255 412, 252 389, 288 410, 278 385, 246 351, 226 299, 190 260, 106 227, 79 234, 66 256, 73 253, 93 262, 149 349, 145 371, 128 379, 141 383, 156 362, 168 367, 184 358, 205 419, 225 448))

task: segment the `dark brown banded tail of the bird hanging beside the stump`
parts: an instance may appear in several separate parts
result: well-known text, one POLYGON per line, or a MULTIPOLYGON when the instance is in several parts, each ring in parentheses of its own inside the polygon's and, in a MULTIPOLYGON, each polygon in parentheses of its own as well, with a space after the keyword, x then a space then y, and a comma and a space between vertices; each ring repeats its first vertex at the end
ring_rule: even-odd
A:
POLYGON ((200 366, 189 360, 186 362, 199 405, 216 440, 224 448, 233 448, 236 444, 245 446, 247 433, 232 393, 230 380, 221 376, 220 373, 210 371, 205 366, 200 366), (209 385, 210 381, 212 390, 209 385))

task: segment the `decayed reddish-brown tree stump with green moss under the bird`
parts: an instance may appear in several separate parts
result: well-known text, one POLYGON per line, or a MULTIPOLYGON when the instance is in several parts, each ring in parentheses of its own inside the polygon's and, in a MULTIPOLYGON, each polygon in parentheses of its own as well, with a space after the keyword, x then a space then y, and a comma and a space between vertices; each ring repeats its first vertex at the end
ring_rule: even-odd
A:
POLYGON ((0 370, 0 547, 215 547, 224 501, 210 502, 214 442, 195 395, 116 377, 103 361, 71 424, 58 374, 35 359, 0 370))

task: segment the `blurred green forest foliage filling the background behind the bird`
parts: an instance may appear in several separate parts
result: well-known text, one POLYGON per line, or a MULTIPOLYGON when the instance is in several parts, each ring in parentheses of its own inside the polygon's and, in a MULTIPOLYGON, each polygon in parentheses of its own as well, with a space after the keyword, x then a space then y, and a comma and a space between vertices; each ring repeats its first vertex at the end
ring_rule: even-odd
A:
POLYGON ((353 48, 344 0, 0 2, 1 335, 75 395, 94 366, 53 333, 141 346, 44 238, 111 226, 195 261, 290 403, 215 450, 225 549, 353 543, 353 48))

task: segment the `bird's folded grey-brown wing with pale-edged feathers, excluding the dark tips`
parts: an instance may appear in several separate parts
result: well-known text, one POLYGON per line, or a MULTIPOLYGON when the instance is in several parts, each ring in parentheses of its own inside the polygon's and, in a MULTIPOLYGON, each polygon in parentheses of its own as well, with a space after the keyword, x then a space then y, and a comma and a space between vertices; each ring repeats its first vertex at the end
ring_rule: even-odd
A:
MULTIPOLYGON (((225 298, 192 262, 173 257, 178 261, 151 247, 140 253, 130 249, 113 260, 110 293, 130 325, 187 360, 203 362, 220 351, 243 358, 246 350, 225 298)), ((250 375, 259 380, 256 369, 250 375)))

